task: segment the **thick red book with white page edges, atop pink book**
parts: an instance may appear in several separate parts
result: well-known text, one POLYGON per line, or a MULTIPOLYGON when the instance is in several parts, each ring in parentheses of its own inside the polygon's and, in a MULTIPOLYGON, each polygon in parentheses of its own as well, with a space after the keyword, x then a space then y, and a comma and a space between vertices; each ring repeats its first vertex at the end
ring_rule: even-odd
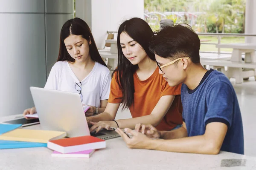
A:
POLYGON ((105 148, 106 141, 93 136, 80 136, 48 141, 47 147, 60 153, 73 153, 105 148))

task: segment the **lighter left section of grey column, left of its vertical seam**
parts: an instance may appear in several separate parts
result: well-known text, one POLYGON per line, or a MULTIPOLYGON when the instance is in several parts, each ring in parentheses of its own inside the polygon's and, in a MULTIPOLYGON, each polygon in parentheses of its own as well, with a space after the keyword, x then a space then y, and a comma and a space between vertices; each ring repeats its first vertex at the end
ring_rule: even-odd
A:
POLYGON ((46 82, 44 0, 0 0, 0 116, 33 106, 46 82))

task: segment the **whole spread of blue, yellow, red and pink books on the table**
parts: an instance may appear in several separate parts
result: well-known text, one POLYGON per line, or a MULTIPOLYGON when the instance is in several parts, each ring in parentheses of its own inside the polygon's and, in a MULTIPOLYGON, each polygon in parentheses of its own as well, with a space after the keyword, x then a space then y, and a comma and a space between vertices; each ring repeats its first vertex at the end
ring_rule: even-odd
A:
POLYGON ((52 157, 90 158, 106 147, 105 140, 93 136, 64 138, 66 132, 22 129, 21 124, 0 124, 0 149, 48 147, 52 157))

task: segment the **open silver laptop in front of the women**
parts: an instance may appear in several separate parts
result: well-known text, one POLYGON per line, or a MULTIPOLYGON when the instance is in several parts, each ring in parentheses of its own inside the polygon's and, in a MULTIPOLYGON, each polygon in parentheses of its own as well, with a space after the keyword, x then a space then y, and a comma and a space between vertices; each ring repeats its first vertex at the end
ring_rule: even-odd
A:
MULTIPOLYGON (((119 137, 115 131, 101 130, 90 134, 80 95, 30 87, 42 130, 67 132, 67 137, 93 135, 101 139, 119 137)), ((85 97, 85 96, 84 96, 85 97)))

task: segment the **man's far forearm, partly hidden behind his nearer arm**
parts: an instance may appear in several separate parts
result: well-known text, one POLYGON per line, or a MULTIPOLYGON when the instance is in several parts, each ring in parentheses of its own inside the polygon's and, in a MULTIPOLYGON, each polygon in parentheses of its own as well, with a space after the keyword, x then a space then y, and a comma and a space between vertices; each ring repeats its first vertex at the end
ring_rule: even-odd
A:
POLYGON ((188 133, 184 127, 172 131, 160 131, 160 138, 162 139, 177 139, 187 137, 188 133))

